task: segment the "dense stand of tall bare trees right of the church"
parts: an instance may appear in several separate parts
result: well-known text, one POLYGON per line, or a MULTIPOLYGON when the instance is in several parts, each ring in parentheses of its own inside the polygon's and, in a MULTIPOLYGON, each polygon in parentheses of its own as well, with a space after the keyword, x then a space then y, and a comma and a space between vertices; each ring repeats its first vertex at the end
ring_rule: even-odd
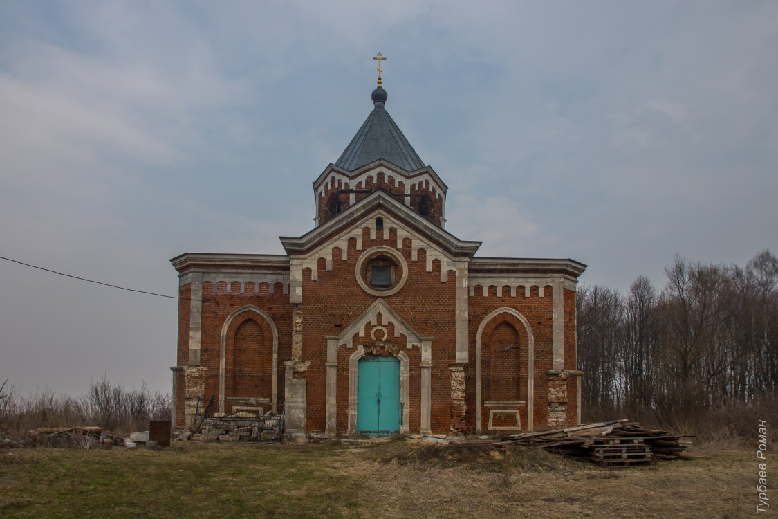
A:
POLYGON ((694 423, 778 394, 778 259, 762 251, 741 268, 676 257, 665 275, 661 293, 639 276, 626 299, 580 287, 585 419, 694 423))

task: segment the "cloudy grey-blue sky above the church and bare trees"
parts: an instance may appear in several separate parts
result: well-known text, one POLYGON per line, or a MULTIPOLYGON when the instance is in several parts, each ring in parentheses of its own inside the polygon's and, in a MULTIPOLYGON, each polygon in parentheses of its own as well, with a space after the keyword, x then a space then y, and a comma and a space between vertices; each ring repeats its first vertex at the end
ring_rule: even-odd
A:
MULTIPOLYGON (((370 110, 478 256, 664 284, 778 253, 778 2, 0 2, 0 256, 177 295, 282 254, 370 110)), ((0 383, 170 391, 177 301, 0 261, 0 383)))

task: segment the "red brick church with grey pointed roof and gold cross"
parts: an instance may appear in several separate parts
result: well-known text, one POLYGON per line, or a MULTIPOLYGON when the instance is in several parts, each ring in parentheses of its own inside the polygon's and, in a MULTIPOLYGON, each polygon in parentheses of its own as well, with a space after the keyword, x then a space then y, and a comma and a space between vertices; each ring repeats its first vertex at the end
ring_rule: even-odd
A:
POLYGON ((380 66, 372 100, 286 254, 170 260, 174 426, 213 396, 214 412, 284 412, 294 441, 577 425, 586 265, 476 256, 480 241, 447 232, 447 185, 387 112, 380 66))

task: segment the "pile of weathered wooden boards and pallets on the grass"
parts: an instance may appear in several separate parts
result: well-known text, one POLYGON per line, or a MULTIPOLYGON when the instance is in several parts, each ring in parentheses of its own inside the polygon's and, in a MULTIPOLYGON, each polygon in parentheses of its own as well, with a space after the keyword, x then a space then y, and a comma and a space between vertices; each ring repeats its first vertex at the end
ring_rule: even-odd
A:
POLYGON ((537 433, 511 434, 501 438, 500 443, 543 447, 607 467, 632 467, 650 465, 657 459, 680 458, 686 448, 681 444, 682 437, 622 419, 537 433))

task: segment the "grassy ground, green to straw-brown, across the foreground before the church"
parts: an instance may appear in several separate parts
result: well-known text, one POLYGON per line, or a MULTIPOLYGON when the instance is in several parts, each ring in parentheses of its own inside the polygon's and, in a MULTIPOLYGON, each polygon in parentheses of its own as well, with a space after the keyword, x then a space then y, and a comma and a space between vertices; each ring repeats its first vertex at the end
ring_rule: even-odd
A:
POLYGON ((752 449, 617 471, 414 442, 16 449, 0 451, 0 516, 750 517, 755 476, 752 449))

